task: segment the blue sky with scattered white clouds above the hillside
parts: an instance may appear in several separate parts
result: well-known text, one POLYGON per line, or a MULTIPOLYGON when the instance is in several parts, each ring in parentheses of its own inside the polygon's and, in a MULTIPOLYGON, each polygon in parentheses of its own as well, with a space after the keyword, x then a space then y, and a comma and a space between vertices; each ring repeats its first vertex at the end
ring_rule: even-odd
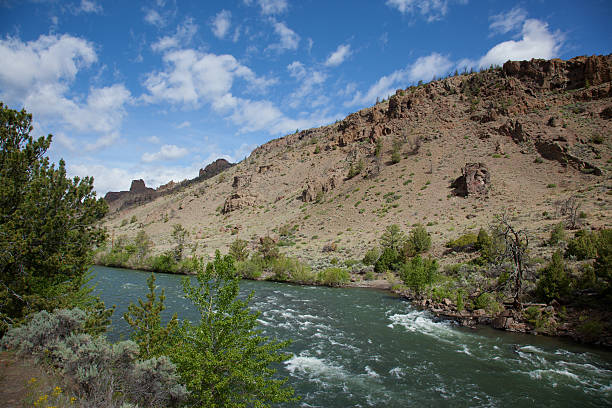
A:
POLYGON ((0 100, 100 194, 508 59, 612 52, 612 2, 0 0, 0 100))

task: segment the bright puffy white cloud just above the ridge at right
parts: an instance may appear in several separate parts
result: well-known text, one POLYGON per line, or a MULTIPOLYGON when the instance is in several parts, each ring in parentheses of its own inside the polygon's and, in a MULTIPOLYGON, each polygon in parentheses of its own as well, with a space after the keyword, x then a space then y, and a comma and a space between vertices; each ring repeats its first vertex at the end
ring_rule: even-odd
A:
POLYGON ((488 67, 501 65, 508 60, 554 58, 559 53, 562 42, 561 33, 551 33, 548 30, 548 24, 540 20, 529 19, 523 23, 520 40, 509 40, 497 44, 480 58, 478 65, 488 67))

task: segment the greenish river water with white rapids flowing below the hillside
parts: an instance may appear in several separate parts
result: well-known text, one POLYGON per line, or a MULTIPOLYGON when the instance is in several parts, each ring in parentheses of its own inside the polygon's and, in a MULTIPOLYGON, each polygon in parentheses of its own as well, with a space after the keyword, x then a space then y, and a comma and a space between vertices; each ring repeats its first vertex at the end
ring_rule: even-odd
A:
MULTIPOLYGON (((121 316, 144 298, 146 272, 95 267, 97 293, 121 316)), ((197 319, 181 276, 157 274, 166 315, 197 319)), ((612 353, 540 336, 437 321, 386 292, 273 282, 241 283, 266 336, 291 339, 279 367, 303 407, 612 406, 612 353)))

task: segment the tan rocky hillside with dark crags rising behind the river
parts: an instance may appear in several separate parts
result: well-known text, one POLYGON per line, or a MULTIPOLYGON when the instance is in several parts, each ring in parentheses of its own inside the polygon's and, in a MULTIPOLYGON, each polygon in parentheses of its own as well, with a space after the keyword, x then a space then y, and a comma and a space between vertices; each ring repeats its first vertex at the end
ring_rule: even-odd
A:
POLYGON ((142 205, 111 202, 106 226, 115 237, 144 228, 160 252, 182 224, 207 255, 284 229, 283 250, 312 262, 361 258, 387 225, 415 223, 441 257, 445 242, 505 212, 545 251, 568 198, 585 226, 612 226, 611 78, 608 55, 507 62, 400 89, 142 205))

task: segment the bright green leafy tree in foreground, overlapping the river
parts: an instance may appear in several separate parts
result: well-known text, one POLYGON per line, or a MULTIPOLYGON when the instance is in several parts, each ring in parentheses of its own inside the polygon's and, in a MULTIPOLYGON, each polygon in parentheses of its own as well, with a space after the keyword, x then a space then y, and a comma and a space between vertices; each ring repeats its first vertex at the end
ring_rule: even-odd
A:
POLYGON ((268 407, 294 400, 286 379, 274 378, 272 364, 289 354, 288 342, 269 340, 257 329, 259 313, 249 310, 251 293, 238 299, 239 277, 231 256, 198 271, 197 284, 183 280, 185 295, 200 312, 197 323, 185 321, 169 348, 196 407, 268 407))

